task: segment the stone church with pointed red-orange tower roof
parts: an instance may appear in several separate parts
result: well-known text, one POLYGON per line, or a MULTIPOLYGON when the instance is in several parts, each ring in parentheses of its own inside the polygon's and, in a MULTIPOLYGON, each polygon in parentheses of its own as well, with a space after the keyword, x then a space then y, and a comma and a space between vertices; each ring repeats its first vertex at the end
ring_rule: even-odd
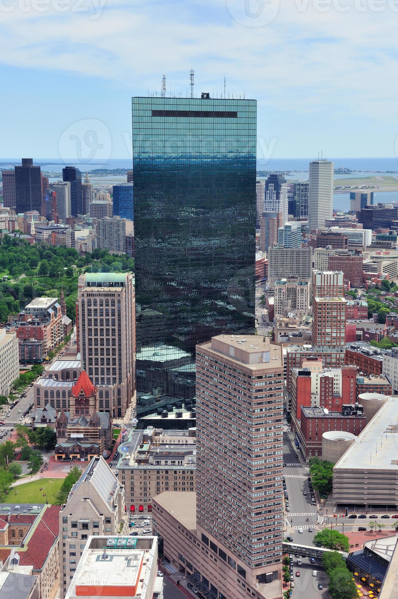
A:
POLYGON ((69 412, 60 410, 56 419, 55 459, 107 457, 112 441, 110 413, 98 410, 98 389, 83 370, 72 387, 69 412))

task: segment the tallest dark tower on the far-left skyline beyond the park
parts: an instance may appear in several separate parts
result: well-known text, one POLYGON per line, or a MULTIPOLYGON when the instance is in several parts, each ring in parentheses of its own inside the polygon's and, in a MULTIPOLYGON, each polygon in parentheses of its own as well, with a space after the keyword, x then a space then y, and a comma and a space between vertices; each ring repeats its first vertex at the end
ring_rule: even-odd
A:
POLYGON ((17 213, 37 210, 41 213, 41 173, 34 166, 32 158, 22 158, 22 164, 16 165, 15 196, 17 213))

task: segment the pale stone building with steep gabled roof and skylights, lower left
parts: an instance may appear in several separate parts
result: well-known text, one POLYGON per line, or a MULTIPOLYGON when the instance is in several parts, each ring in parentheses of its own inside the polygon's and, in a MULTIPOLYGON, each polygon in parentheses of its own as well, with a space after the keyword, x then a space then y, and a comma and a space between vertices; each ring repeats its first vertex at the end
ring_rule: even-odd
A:
POLYGON ((126 533, 124 487, 104 458, 93 458, 59 512, 60 598, 68 591, 90 535, 126 533))

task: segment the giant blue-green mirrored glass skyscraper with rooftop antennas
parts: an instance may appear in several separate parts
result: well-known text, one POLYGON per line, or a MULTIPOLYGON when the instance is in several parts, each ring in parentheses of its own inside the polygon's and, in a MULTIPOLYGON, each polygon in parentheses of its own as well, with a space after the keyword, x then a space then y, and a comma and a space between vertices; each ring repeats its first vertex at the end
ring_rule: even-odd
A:
POLYGON ((257 102, 133 98, 132 110, 139 416, 189 407, 196 344, 254 332, 257 102))

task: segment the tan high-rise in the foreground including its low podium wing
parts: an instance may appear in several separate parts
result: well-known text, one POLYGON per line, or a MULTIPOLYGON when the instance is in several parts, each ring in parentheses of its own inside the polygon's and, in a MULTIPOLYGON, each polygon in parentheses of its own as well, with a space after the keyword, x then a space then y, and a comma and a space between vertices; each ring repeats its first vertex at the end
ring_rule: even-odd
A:
POLYGON ((196 346, 196 504, 194 494, 162 493, 153 525, 204 596, 282 597, 283 370, 269 338, 196 346))

